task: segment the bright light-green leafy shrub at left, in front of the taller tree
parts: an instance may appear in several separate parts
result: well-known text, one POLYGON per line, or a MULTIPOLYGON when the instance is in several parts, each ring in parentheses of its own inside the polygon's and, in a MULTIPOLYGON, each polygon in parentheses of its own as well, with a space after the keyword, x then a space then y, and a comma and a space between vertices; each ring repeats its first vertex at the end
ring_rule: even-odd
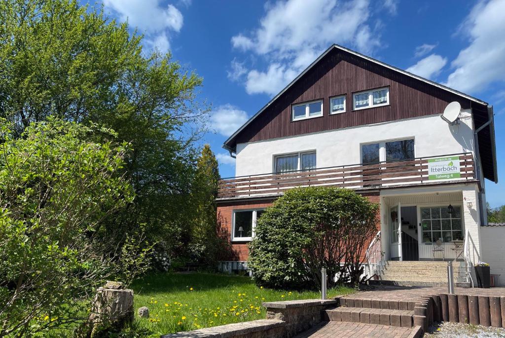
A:
POLYGON ((141 234, 108 240, 104 220, 133 202, 129 145, 112 130, 49 118, 15 138, 0 119, 0 337, 84 322, 108 278, 143 270, 141 234), (96 134, 110 141, 98 142, 96 134))

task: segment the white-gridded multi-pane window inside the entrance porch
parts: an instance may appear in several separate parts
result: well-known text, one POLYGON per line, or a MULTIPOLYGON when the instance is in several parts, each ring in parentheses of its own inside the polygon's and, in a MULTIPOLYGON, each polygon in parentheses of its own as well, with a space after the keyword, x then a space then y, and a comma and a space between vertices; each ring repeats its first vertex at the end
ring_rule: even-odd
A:
POLYGON ((423 243, 435 243, 439 238, 443 242, 462 240, 461 207, 454 207, 452 214, 446 206, 421 208, 421 227, 423 243))

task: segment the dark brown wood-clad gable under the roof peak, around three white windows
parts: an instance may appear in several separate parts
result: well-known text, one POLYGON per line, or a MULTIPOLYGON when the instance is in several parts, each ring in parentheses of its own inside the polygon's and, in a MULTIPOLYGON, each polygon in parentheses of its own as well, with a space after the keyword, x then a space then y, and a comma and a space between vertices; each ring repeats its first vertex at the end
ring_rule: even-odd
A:
POLYGON ((441 114, 451 101, 459 101, 462 108, 479 105, 359 56, 333 49, 228 144, 234 148, 236 143, 441 114), (353 92, 384 86, 389 86, 389 106, 352 111, 353 92), (329 98, 341 94, 346 94, 346 112, 329 115, 329 98), (291 121, 292 104, 318 99, 324 100, 322 117, 291 121))

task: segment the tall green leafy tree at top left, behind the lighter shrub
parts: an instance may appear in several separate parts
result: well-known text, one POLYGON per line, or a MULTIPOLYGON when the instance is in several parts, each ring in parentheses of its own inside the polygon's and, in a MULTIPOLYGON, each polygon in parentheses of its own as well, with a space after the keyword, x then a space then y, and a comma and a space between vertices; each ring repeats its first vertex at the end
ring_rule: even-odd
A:
POLYGON ((193 143, 208 106, 196 100, 200 77, 141 42, 77 0, 0 2, 0 117, 15 137, 49 116, 114 129, 132 147, 118 174, 136 198, 102 230, 120 243, 145 224, 148 239, 165 240, 176 255, 190 242, 193 143))

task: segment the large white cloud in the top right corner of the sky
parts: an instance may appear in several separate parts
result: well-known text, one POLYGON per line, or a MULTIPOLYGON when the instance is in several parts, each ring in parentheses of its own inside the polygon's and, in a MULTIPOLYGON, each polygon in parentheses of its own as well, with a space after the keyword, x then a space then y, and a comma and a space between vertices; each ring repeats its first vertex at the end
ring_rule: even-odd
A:
POLYGON ((470 44, 452 61, 446 85, 464 92, 479 92, 505 78, 505 0, 479 2, 459 33, 470 44))

